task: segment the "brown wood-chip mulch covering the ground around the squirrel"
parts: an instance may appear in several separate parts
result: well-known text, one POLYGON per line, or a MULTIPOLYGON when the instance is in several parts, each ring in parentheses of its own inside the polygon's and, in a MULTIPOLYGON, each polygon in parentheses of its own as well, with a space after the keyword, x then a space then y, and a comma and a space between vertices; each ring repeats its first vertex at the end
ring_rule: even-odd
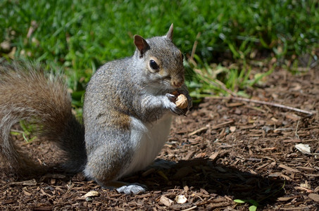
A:
MULTIPOLYGON (((249 94, 315 115, 206 98, 175 119, 155 165, 124 179, 146 184, 146 193, 125 196, 82 174, 16 179, 0 167, 0 210, 248 210, 254 202, 258 210, 319 210, 319 71, 277 70, 249 94), (83 197, 89 191, 96 196, 83 197)), ((58 160, 45 141, 25 148, 42 163, 58 160)))

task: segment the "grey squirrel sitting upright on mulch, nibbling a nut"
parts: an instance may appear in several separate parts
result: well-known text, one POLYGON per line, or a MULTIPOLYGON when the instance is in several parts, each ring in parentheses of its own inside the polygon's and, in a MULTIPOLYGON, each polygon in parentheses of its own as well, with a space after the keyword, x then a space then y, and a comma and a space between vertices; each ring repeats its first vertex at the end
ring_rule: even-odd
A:
POLYGON ((83 172, 120 193, 146 191, 142 184, 118 179, 150 165, 163 148, 173 115, 186 115, 192 107, 183 54, 172 39, 173 24, 161 37, 135 35, 133 56, 96 70, 85 91, 83 124, 72 113, 61 75, 52 77, 30 63, 1 65, 0 157, 18 174, 42 171, 10 135, 13 124, 27 120, 61 148, 66 172, 83 172), (176 106, 176 91, 187 97, 187 108, 176 106))

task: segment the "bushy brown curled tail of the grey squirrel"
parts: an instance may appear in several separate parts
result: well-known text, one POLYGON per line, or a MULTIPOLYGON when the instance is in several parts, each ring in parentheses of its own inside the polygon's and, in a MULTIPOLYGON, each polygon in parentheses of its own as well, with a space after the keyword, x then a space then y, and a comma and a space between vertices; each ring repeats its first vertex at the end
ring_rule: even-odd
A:
POLYGON ((86 162, 84 127, 71 111, 71 98, 61 77, 45 74, 39 65, 0 65, 0 156, 22 175, 41 172, 11 138, 20 120, 39 126, 41 136, 65 152, 65 170, 80 172, 86 162))

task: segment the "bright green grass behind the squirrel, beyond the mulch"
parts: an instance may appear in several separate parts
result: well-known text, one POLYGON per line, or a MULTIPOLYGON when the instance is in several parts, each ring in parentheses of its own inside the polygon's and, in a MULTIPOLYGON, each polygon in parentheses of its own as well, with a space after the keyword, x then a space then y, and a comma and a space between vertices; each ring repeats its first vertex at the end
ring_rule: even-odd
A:
MULTIPOLYGON (((0 43, 8 41, 11 49, 0 49, 0 56, 62 68, 74 91, 74 102, 80 106, 85 84, 96 68, 108 60, 132 55, 134 34, 165 34, 174 23, 175 44, 186 55, 191 55, 198 41, 193 54, 195 64, 187 63, 187 69, 199 68, 201 76, 208 76, 206 79, 220 79, 228 89, 241 91, 254 84, 246 63, 256 59, 254 52, 278 60, 305 53, 315 57, 318 4, 318 0, 2 0, 0 43), (30 28, 34 30, 27 36, 30 28), (225 67, 223 74, 213 78, 206 73, 207 67, 220 64, 220 58, 239 63, 239 68, 225 67)), ((194 74, 187 78, 195 94, 212 89, 194 74)))

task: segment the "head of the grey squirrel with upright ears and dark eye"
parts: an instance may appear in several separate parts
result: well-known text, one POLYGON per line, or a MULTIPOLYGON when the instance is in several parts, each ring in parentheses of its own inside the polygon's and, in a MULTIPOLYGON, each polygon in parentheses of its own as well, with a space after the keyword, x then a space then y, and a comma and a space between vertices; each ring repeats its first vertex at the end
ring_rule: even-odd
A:
POLYGON ((184 84, 183 54, 173 44, 173 24, 163 37, 144 39, 135 35, 135 56, 143 64, 145 82, 151 87, 174 90, 184 84))

